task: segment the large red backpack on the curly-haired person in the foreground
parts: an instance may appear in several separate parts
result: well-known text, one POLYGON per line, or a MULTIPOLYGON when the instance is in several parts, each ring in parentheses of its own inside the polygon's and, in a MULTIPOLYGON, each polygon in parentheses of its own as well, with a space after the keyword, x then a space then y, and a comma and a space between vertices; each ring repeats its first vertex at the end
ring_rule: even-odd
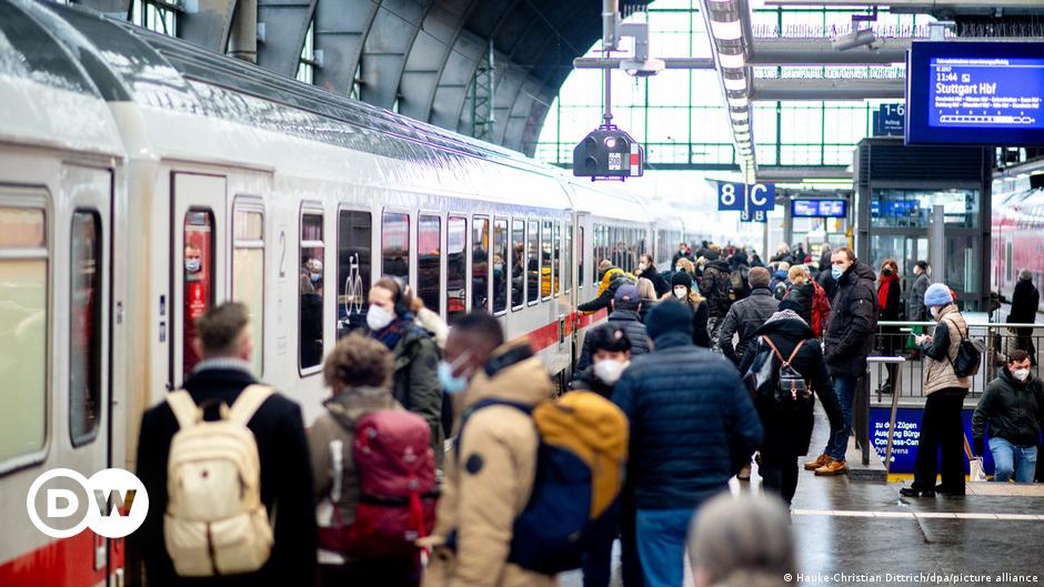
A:
POLYGON ((424 418, 402 409, 367 414, 355 423, 352 456, 359 475, 355 520, 321 528, 320 546, 353 558, 410 558, 435 519, 435 455, 424 418))

